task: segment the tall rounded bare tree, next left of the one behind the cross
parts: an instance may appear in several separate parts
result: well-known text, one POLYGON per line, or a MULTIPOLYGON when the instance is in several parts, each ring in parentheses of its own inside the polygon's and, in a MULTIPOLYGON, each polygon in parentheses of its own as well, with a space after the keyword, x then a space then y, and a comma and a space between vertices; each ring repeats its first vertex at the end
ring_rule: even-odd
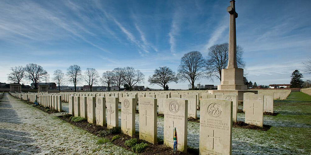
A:
POLYGON ((204 76, 205 60, 198 51, 192 51, 183 55, 178 67, 178 77, 181 81, 190 82, 194 90, 194 82, 204 76))

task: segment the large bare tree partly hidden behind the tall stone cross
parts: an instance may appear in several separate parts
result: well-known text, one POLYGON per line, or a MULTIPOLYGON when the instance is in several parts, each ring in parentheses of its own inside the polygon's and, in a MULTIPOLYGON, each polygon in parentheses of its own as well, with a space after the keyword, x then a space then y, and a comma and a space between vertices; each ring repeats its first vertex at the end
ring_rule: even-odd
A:
MULTIPOLYGON (((221 70, 227 68, 229 58, 229 44, 217 44, 210 47, 206 61, 207 75, 216 76, 221 81, 221 70)), ((242 59, 244 51, 240 46, 236 47, 236 61, 238 68, 244 68, 242 59)))

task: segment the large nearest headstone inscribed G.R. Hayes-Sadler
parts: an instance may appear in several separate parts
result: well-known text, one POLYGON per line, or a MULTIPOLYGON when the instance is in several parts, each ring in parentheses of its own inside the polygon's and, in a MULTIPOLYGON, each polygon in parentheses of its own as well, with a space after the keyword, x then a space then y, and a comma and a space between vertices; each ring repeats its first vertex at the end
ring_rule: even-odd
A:
POLYGON ((201 100, 199 154, 230 155, 232 150, 232 101, 201 100))

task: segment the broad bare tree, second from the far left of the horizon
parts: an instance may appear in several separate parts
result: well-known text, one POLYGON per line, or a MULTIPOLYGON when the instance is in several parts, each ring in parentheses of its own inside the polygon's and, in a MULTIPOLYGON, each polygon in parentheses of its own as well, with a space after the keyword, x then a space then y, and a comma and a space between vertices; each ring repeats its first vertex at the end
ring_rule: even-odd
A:
POLYGON ((27 64, 25 71, 27 72, 27 78, 34 83, 35 89, 37 89, 37 84, 39 82, 49 76, 48 72, 37 64, 27 64))

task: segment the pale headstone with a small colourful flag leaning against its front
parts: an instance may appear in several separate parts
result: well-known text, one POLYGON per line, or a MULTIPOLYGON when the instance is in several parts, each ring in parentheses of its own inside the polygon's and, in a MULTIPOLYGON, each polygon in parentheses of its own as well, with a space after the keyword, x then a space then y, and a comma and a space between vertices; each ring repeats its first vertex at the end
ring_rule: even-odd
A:
POLYGON ((180 98, 165 100, 164 145, 173 148, 174 128, 177 131, 177 150, 187 153, 188 101, 180 98))

